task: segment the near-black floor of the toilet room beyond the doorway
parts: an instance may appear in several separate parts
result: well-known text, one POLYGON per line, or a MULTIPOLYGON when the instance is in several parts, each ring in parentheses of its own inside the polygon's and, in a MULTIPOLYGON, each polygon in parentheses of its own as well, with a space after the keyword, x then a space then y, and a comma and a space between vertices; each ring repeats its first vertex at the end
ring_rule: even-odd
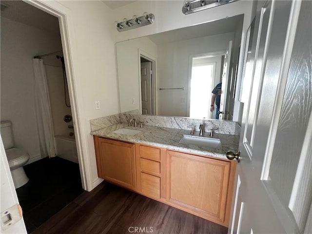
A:
POLYGON ((79 165, 59 158, 42 158, 24 166, 27 184, 16 190, 28 233, 57 214, 83 192, 79 165))

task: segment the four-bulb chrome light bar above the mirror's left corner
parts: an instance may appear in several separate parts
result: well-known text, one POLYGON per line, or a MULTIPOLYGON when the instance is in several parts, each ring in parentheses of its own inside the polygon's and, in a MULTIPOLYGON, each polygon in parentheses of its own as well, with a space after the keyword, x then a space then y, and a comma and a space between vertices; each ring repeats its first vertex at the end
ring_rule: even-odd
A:
POLYGON ((138 28, 148 24, 152 24, 155 21, 154 14, 146 14, 144 16, 136 17, 131 20, 125 20, 117 23, 118 32, 127 31, 133 28, 138 28))

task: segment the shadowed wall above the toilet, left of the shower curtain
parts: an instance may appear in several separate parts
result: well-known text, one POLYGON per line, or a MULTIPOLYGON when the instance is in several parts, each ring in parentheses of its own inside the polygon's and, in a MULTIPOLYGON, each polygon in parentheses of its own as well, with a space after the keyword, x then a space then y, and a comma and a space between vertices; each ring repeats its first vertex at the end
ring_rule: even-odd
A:
POLYGON ((32 59, 61 50, 60 37, 1 17, 1 121, 11 120, 16 147, 40 159, 32 59))

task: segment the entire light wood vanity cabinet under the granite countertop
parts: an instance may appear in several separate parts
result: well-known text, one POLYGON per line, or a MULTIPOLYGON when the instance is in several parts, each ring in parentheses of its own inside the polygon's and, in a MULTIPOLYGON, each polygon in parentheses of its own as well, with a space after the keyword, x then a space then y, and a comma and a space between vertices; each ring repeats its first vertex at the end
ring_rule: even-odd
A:
POLYGON ((236 162, 94 139, 99 177, 228 227, 236 162))

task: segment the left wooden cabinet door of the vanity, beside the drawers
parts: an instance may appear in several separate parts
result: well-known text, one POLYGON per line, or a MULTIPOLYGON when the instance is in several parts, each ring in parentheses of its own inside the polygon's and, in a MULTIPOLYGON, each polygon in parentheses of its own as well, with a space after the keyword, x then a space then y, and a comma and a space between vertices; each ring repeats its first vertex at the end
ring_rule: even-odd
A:
POLYGON ((98 139, 103 179, 129 189, 136 189, 135 144, 98 139))

